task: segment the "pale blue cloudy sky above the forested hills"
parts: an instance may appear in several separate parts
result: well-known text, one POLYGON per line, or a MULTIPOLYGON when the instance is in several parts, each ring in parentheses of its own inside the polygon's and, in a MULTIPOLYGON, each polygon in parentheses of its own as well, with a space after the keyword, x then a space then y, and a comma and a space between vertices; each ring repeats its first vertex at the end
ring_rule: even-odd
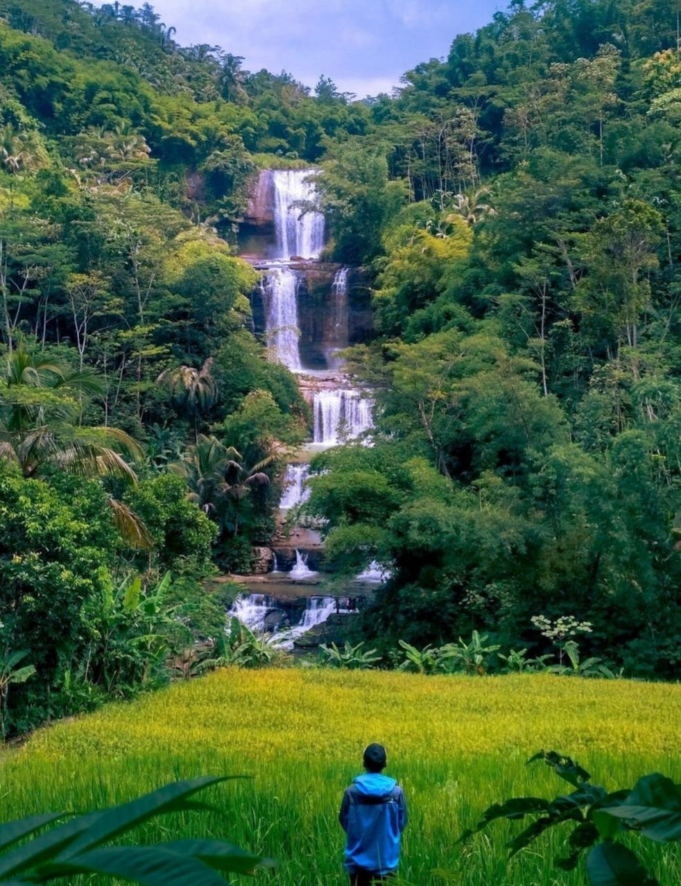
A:
POLYGON ((319 74, 358 97, 389 91, 404 71, 447 55, 455 35, 504 9, 497 0, 155 0, 176 39, 220 45, 314 86, 319 74))

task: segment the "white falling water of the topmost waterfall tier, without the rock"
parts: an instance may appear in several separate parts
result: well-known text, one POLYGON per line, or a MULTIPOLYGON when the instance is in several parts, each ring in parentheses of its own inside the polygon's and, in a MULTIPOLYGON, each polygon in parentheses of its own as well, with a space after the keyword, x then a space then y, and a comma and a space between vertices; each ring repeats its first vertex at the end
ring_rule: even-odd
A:
POLYGON ((316 175, 312 169, 275 169, 274 225, 277 233, 277 258, 317 259, 324 246, 324 215, 302 214, 301 203, 314 203, 316 175), (298 205, 296 205, 298 204, 298 205))

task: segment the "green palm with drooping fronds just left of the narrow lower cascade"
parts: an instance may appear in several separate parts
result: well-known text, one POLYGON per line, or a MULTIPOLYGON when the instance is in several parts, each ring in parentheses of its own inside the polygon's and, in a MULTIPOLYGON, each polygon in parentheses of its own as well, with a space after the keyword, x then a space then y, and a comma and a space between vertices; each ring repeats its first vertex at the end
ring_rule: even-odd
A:
POLYGON ((194 446, 170 470, 184 477, 189 487, 187 498, 215 520, 221 534, 231 523, 231 504, 232 532, 239 535, 239 503, 255 486, 270 482, 263 469, 273 461, 270 456, 247 468, 234 447, 224 446, 212 435, 200 434, 194 446))

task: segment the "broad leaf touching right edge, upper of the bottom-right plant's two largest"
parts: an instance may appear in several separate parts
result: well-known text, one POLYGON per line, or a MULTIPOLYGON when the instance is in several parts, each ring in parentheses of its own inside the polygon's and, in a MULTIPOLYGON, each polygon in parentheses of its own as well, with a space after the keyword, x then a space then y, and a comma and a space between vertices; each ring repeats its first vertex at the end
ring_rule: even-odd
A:
POLYGON ((639 779, 622 805, 607 806, 603 812, 651 840, 681 840, 681 790, 660 773, 639 779))

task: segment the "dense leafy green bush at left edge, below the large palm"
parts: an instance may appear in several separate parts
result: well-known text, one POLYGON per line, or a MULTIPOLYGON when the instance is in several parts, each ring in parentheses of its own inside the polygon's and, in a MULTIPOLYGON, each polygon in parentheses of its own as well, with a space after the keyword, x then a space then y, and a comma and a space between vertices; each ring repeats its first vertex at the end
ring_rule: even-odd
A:
POLYGON ((10 733, 53 713, 53 688, 82 648, 83 603, 102 593, 116 545, 98 483, 64 478, 57 489, 0 462, 0 641, 27 649, 37 671, 10 696, 10 733))

